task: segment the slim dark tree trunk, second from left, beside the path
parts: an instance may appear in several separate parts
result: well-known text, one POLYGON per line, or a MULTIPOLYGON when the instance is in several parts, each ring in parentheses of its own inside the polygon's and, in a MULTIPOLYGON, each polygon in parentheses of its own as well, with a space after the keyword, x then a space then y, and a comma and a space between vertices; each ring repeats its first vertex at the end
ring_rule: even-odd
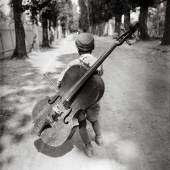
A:
POLYGON ((42 17, 42 29, 43 29, 42 47, 50 47, 48 40, 48 21, 45 17, 42 17))

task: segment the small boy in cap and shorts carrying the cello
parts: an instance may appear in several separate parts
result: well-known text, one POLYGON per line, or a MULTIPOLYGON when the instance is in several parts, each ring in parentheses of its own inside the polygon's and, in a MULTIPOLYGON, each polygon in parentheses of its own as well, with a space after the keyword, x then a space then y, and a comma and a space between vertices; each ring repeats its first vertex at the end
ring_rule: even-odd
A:
MULTIPOLYGON (((76 46, 79 53, 79 58, 70 62, 67 68, 60 74, 58 78, 58 87, 60 88, 62 78, 65 72, 73 65, 83 65, 85 67, 91 67, 97 60, 94 56, 91 55, 94 49, 94 37, 89 33, 80 33, 76 38, 76 46)), ((97 74, 103 74, 102 66, 97 69, 97 74)), ((85 152, 87 156, 93 156, 93 147, 91 144, 91 139, 89 137, 88 131, 86 129, 86 119, 89 120, 92 124, 94 133, 95 133, 95 142, 99 146, 103 144, 101 129, 98 121, 99 114, 99 104, 95 104, 88 110, 79 111, 76 113, 75 117, 79 122, 79 133, 82 138, 83 143, 85 144, 85 152)))

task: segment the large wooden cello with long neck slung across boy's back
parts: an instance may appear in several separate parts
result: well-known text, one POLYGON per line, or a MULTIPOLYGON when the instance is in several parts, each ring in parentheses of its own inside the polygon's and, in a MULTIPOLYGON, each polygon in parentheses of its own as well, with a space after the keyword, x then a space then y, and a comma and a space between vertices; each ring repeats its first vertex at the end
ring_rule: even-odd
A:
POLYGON ((91 68, 71 66, 66 71, 57 93, 52 97, 45 97, 35 105, 32 112, 33 132, 45 144, 53 147, 62 145, 74 127, 75 114, 80 110, 87 110, 101 99, 104 94, 104 82, 94 73, 117 46, 133 35, 138 25, 131 25, 91 68))

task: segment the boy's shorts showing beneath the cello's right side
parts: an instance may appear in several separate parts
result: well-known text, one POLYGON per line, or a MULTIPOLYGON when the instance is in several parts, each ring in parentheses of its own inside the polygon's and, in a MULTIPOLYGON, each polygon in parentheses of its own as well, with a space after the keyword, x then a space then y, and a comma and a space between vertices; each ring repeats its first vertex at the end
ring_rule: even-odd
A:
POLYGON ((99 110, 100 110, 100 105, 99 103, 97 103, 86 111, 83 111, 83 110, 78 111, 75 117, 78 119, 79 122, 84 119, 94 122, 98 120, 99 110))

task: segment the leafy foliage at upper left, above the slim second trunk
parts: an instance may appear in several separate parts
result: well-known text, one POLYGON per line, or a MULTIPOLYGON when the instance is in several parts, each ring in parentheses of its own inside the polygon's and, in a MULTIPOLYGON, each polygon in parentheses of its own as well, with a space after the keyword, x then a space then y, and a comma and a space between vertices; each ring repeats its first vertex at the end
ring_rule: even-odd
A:
POLYGON ((24 8, 30 11, 33 22, 37 23, 43 17, 49 20, 54 27, 56 27, 58 19, 65 26, 73 18, 71 0, 30 0, 27 1, 24 8))

